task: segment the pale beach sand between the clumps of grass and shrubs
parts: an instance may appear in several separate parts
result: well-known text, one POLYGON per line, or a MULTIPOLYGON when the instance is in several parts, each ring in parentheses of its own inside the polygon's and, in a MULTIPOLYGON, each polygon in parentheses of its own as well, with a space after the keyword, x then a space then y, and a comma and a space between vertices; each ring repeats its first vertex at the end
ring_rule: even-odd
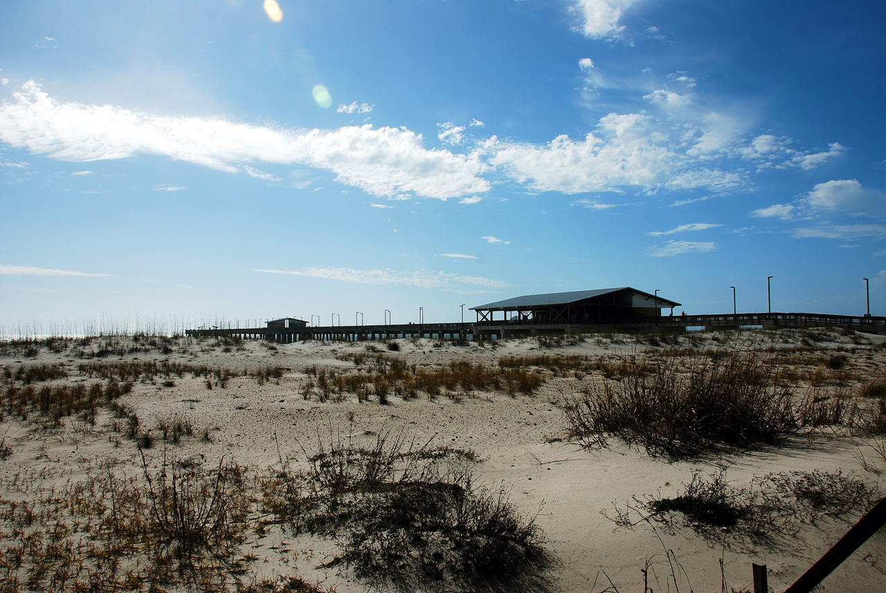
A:
MULTIPOLYGON (((766 333, 765 337, 759 333, 750 341, 760 343, 772 340, 773 336, 784 348, 810 340, 808 332, 785 331, 766 333)), ((735 335, 699 334, 681 338, 675 345, 723 348, 725 341, 734 338, 735 335)), ((127 340, 114 338, 110 343, 120 345, 127 340)), ((839 350, 848 358, 851 378, 840 388, 845 392, 876 376, 882 377, 886 367, 882 339, 821 331, 813 335, 812 342, 815 350, 839 350)), ((493 489, 503 488, 519 512, 534 516, 543 530, 546 548, 556 560, 545 574, 551 591, 602 591, 610 587, 610 582, 619 591, 639 591, 643 586, 641 571, 647 561, 653 563, 651 586, 655 590, 674 590, 674 583, 668 581, 671 568, 665 550, 672 551, 672 558, 681 567, 677 582, 680 590, 721 590, 724 579, 726 590, 752 589, 752 562, 766 564, 770 587, 783 590, 859 518, 859 512, 850 512, 836 520, 802 525, 789 543, 755 547, 733 542, 728 533, 724 534, 724 545, 705 540, 690 528, 679 527, 672 533, 662 526, 653 529, 645 523, 633 529, 617 528, 602 514, 611 515, 615 504, 623 505, 632 497, 677 496, 694 473, 707 475, 727 466, 727 481, 744 487, 754 476, 773 472, 839 470, 882 487, 881 475, 865 471, 859 462, 859 451, 867 451, 870 458, 873 450, 863 440, 828 430, 791 437, 777 446, 754 451, 721 451, 709 458, 673 462, 652 458, 645 451, 631 449, 616 440, 610 442, 609 449, 585 451, 566 437, 562 404, 564 395, 577 391, 581 381, 602 381, 594 376, 580 380, 548 376, 548 381, 531 396, 479 392, 460 402, 442 395, 432 400, 417 397, 408 401, 392 396, 385 405, 371 398, 358 402, 353 394, 345 401, 324 403, 315 397, 306 401, 302 396, 308 367, 353 370, 353 362, 340 360, 337 355, 367 349, 382 350, 409 363, 434 366, 461 359, 495 365, 502 356, 538 353, 616 359, 642 356, 646 350, 661 348, 643 339, 618 335, 588 336, 580 343, 553 348, 541 348, 534 340, 462 346, 431 340, 397 343, 399 351, 388 351, 380 343, 307 342, 268 348, 268 343, 244 342, 239 347, 226 348, 209 339, 183 338, 166 354, 152 349, 91 358, 91 353, 101 347, 100 342, 93 341, 89 346, 71 346, 61 352, 43 348, 35 358, 24 358, 21 351, 7 348, 0 365, 14 369, 22 364, 60 363, 69 370, 67 381, 88 382, 76 368, 83 362, 99 360, 170 360, 237 371, 265 366, 289 369, 279 381, 260 384, 254 377, 238 376, 224 388, 215 385, 213 389, 206 388, 204 379, 192 378, 190 374, 175 377, 174 386, 164 386, 159 378, 154 383, 136 382, 132 393, 121 401, 136 410, 144 427, 152 427, 158 418, 177 415, 190 419, 197 435, 207 428, 209 442, 194 436, 168 445, 168 451, 177 458, 190 458, 206 467, 217 465, 223 457, 255 472, 269 472, 280 466, 281 456, 291 458, 295 464, 303 462, 305 450, 311 451, 318 435, 321 439, 341 435, 353 443, 370 444, 385 431, 403 431, 416 442, 430 442, 431 446, 475 451, 482 458, 474 467, 475 482, 493 489), (655 583, 653 573, 659 584, 655 583)), ((742 338, 738 343, 747 347, 749 340, 742 338)), ((804 381, 798 380, 798 388, 805 386, 804 381)), ((0 461, 4 497, 16 496, 12 487, 16 476, 31 474, 40 476, 39 480, 47 484, 62 485, 82 480, 107 458, 130 468, 131 474, 138 474, 142 462, 135 443, 113 432, 111 421, 110 412, 103 412, 94 427, 70 419, 62 427, 43 427, 34 419, 21 421, 7 416, 0 422, 0 435, 4 435, 4 443, 12 450, 9 458, 0 461)), ((158 443, 148 451, 153 464, 159 463, 162 450, 162 443, 158 443)), ((880 461, 881 466, 886 465, 880 461)), ((339 593, 369 589, 346 566, 316 568, 337 553, 333 542, 309 535, 292 538, 276 530, 263 538, 253 535, 249 545, 260 557, 255 570, 260 578, 298 574, 307 581, 320 583, 323 589, 339 593)), ((838 567, 820 590, 886 589, 886 559, 881 559, 882 555, 886 555, 886 534, 880 533, 838 567)))

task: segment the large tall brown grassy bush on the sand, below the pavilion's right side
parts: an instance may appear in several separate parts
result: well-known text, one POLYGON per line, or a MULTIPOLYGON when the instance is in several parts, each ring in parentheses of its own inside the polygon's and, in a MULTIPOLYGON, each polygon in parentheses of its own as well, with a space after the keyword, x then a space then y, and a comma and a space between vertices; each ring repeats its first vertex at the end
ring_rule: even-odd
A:
POLYGON ((718 446, 774 443, 800 426, 789 389, 773 385, 754 355, 674 360, 620 382, 587 388, 565 404, 570 436, 587 448, 618 437, 650 455, 688 458, 718 446))

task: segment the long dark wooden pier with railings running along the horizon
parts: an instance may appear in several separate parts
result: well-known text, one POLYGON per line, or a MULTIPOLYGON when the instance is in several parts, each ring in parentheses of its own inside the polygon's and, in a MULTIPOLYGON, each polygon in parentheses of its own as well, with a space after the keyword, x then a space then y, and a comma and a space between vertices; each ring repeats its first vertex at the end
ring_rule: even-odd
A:
POLYGON ((773 329, 777 327, 835 327, 886 335, 886 317, 827 315, 820 313, 739 313, 737 315, 675 315, 646 317, 605 325, 544 324, 532 320, 423 323, 369 326, 214 327, 188 329, 186 335, 229 336, 244 340, 293 343, 303 340, 362 342, 411 337, 439 340, 499 340, 534 335, 655 334, 708 329, 773 329))

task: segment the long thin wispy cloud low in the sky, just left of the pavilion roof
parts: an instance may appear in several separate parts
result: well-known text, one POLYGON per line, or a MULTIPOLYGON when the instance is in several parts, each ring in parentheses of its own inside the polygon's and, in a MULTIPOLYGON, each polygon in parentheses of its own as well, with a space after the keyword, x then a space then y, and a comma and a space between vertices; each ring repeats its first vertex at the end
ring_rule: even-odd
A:
POLYGON ((373 268, 371 270, 355 270, 349 267, 311 267, 307 270, 260 270, 261 273, 286 273, 324 280, 337 280, 355 284, 400 285, 414 286, 419 289, 445 289, 454 292, 486 291, 488 289, 507 289, 509 284, 500 280, 491 280, 480 276, 460 276, 455 273, 428 272, 397 272, 390 268, 373 268))

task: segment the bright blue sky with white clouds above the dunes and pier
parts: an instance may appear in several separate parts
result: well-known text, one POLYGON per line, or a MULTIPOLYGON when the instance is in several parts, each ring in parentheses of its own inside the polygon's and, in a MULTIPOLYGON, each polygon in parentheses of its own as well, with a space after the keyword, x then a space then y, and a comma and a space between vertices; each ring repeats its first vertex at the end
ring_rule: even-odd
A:
POLYGON ((0 333, 623 286, 766 312, 768 276, 773 312, 884 315, 883 30, 880 0, 4 0, 0 333))

